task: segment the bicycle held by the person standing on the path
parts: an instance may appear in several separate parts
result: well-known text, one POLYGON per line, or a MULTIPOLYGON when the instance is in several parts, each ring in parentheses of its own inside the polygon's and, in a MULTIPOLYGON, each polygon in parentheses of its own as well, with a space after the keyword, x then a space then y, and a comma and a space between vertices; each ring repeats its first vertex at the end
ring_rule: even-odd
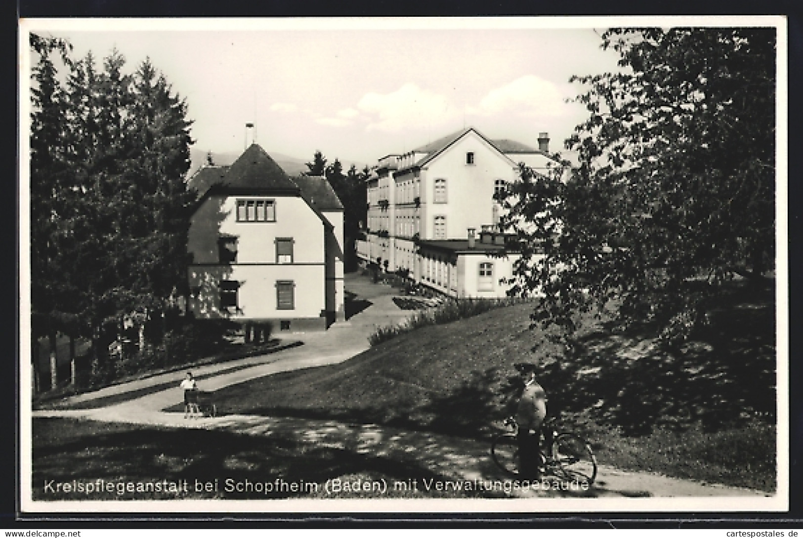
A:
MULTIPOLYGON (((545 453, 539 439, 537 457, 540 467, 546 475, 562 476, 570 481, 586 483, 590 487, 597 478, 597 458, 591 446, 577 434, 557 430, 555 422, 555 418, 548 418, 541 426, 541 431, 552 434, 552 445, 549 447, 549 452, 545 453)), ((520 454, 517 438, 519 425, 513 417, 506 418, 504 425, 511 431, 499 434, 493 439, 491 458, 508 475, 519 475, 520 454)))

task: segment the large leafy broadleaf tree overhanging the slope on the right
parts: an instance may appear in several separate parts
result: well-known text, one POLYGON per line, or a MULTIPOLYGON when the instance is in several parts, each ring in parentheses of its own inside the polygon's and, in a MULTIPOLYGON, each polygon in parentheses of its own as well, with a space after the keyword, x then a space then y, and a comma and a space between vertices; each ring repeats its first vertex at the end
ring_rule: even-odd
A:
POLYGON ((514 293, 543 293, 533 319, 575 328, 613 307, 677 343, 775 251, 775 33, 765 28, 613 29, 622 71, 575 76, 589 119, 562 181, 522 169, 503 224, 523 249, 514 293))

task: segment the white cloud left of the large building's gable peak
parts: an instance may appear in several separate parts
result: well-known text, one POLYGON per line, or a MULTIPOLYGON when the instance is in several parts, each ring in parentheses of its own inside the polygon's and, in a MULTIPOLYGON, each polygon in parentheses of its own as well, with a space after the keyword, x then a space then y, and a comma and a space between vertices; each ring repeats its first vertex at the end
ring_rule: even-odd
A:
POLYGON ((444 124, 460 114, 446 96, 412 83, 392 93, 366 93, 357 108, 370 118, 367 130, 384 132, 444 124))

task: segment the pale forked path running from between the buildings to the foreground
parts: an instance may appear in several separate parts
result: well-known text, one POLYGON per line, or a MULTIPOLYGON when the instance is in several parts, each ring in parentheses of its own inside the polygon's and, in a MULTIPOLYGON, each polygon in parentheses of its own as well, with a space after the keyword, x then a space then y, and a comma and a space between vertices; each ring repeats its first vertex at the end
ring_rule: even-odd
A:
MULTIPOLYGON (((327 332, 304 335, 304 345, 267 356, 250 357, 241 361, 209 365, 194 369, 199 376, 212 375, 202 381, 202 389, 222 387, 249 381, 273 373, 321 365, 332 365, 349 359, 369 348, 368 336, 377 326, 396 324, 410 315, 393 304, 390 287, 368 283, 365 279, 352 279, 349 291, 369 300, 370 306, 350 320, 335 324, 327 332), (233 372, 225 370, 243 367, 233 372), (220 375, 214 375, 221 372, 220 375)), ((145 389, 166 382, 177 385, 184 373, 165 373, 145 380, 132 381, 93 393, 76 396, 72 401, 145 389)), ((226 415, 216 418, 185 419, 183 413, 165 413, 162 410, 183 401, 183 394, 175 386, 170 389, 137 397, 113 406, 88 410, 42 410, 34 417, 85 418, 103 422, 125 422, 154 426, 203 428, 224 430, 239 434, 276 436, 304 442, 316 442, 355 450, 389 459, 410 459, 431 471, 450 479, 503 479, 491 462, 487 442, 457 438, 446 434, 398 430, 376 425, 355 425, 331 420, 303 418, 271 418, 252 415, 226 415)), ((526 491, 522 496, 581 495, 580 492, 526 491)), ((691 480, 672 479, 648 473, 629 473, 610 467, 601 467, 593 491, 584 495, 594 497, 622 496, 713 496, 713 495, 765 495, 732 487, 714 486, 691 480)))

